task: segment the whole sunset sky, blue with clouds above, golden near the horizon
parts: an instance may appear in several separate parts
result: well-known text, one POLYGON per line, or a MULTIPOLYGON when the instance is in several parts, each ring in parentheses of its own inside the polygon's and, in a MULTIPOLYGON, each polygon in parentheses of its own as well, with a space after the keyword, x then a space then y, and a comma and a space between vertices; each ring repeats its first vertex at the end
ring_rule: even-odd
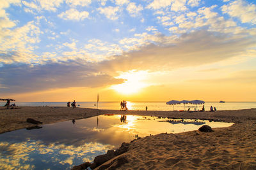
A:
POLYGON ((0 0, 0 98, 256 101, 256 2, 0 0))

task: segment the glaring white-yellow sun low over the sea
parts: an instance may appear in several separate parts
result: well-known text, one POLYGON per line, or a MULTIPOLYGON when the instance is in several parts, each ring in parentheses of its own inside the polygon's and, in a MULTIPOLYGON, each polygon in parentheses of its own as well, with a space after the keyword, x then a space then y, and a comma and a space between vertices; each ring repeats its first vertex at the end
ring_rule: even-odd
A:
POLYGON ((110 88, 126 95, 135 94, 140 92, 141 89, 148 87, 144 81, 146 77, 147 71, 131 70, 125 73, 121 72, 120 76, 116 76, 115 78, 124 79, 124 83, 112 85, 110 88))

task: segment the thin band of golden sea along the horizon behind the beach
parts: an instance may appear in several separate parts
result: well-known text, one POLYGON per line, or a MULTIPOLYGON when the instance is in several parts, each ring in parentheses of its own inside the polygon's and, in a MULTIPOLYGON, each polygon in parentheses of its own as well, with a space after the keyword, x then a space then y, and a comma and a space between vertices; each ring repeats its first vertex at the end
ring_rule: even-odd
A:
MULTIPOLYGON (((72 102, 72 101, 71 101, 72 102)), ((67 102, 11 102, 16 106, 67 106, 67 102)), ((0 102, 0 106, 4 106, 4 102, 0 102)), ((120 102, 79 102, 76 101, 77 107, 80 108, 99 108, 100 110, 120 110, 120 102)), ((204 105, 205 111, 209 111, 211 106, 216 110, 243 110, 256 108, 256 102, 205 102, 205 104, 176 104, 168 105, 166 102, 133 102, 127 101, 128 110, 147 110, 150 111, 173 111, 173 110, 202 110, 204 105)))

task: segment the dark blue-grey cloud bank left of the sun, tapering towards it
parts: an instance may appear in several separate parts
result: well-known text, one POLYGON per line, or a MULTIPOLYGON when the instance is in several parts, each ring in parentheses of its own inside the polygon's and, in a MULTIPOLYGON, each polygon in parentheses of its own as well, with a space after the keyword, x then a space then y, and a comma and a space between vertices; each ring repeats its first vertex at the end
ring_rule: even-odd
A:
POLYGON ((35 92, 67 87, 103 87, 122 83, 83 60, 30 64, 4 64, 0 67, 1 92, 35 92))

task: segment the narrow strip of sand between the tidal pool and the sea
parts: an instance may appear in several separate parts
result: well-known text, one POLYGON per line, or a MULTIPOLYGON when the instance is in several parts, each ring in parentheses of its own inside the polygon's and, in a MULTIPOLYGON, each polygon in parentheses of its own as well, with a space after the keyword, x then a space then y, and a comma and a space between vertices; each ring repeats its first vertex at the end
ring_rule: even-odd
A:
MULTIPOLYGON (((253 110, 253 109, 251 109, 253 110)), ((256 110, 256 109, 255 109, 256 110)), ((141 115, 141 116, 156 116, 156 117, 173 117, 173 118, 197 118, 207 120, 219 120, 223 122, 239 122, 241 117, 252 117, 252 115, 237 115, 243 110, 227 110, 216 112, 180 112, 180 111, 120 111, 120 110, 99 110, 99 115, 116 114, 116 115, 141 115), (226 113, 232 112, 232 115, 226 113), (225 116, 226 115, 226 116, 225 116)), ((35 124, 26 122, 27 118, 33 118, 43 124, 54 124, 72 119, 81 119, 97 116, 98 110, 92 108, 68 108, 61 106, 22 106, 13 107, 7 110, 5 107, 0 107, 0 134, 4 132, 15 131, 33 127, 35 124)))

